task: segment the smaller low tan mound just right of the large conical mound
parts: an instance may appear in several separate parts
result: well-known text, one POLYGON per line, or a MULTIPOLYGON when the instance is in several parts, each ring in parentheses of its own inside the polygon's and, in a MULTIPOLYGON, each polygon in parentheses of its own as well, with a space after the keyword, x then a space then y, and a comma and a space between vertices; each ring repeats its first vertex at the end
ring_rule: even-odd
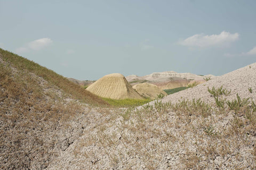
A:
POLYGON ((156 99, 160 94, 167 96, 165 91, 159 89, 155 84, 151 83, 136 84, 132 88, 135 89, 141 96, 150 99, 156 99))

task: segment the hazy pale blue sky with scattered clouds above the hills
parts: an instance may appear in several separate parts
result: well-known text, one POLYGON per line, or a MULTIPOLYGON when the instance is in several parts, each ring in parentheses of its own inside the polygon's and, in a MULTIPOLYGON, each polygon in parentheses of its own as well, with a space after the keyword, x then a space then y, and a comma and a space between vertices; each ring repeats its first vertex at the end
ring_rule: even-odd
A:
POLYGON ((256 62, 256 1, 0 0, 0 48, 64 77, 222 75, 256 62))

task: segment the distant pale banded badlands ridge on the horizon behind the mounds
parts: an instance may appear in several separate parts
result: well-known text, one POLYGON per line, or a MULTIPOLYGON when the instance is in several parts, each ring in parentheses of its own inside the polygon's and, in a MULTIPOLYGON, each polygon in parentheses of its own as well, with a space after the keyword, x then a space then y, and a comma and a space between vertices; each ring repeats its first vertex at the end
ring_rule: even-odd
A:
POLYGON ((127 81, 133 85, 148 82, 155 84, 160 89, 174 89, 178 87, 187 87, 188 83, 196 81, 198 84, 205 82, 206 78, 213 78, 214 75, 196 75, 191 73, 177 73, 174 71, 156 72, 149 75, 139 77, 137 75, 129 75, 127 81))

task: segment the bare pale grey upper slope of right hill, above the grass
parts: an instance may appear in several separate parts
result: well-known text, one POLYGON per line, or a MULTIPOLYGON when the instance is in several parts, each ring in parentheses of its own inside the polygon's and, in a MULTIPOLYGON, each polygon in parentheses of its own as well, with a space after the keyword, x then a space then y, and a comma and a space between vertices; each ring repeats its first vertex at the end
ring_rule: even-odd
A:
POLYGON ((212 87, 219 88, 221 86, 227 90, 231 90, 230 94, 225 96, 227 100, 236 99, 236 94, 238 94, 241 98, 252 98, 255 101, 256 63, 247 65, 241 69, 229 72, 219 77, 213 77, 212 80, 199 84, 194 88, 189 88, 182 90, 177 94, 169 95, 162 101, 177 103, 181 98, 188 100, 201 98, 207 103, 214 103, 215 100, 208 92, 208 87, 212 89, 212 87), (252 88, 254 92, 251 93, 248 90, 249 88, 252 88))

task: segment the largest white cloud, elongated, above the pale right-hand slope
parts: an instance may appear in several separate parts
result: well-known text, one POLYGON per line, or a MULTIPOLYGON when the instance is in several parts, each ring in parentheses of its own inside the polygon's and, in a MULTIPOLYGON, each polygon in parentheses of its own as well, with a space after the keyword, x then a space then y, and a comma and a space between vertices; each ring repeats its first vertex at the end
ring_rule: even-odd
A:
POLYGON ((188 37, 185 40, 180 40, 178 44, 188 47, 211 47, 219 45, 228 45, 229 43, 237 40, 239 37, 238 33, 230 33, 222 31, 219 35, 203 35, 196 34, 188 37))

